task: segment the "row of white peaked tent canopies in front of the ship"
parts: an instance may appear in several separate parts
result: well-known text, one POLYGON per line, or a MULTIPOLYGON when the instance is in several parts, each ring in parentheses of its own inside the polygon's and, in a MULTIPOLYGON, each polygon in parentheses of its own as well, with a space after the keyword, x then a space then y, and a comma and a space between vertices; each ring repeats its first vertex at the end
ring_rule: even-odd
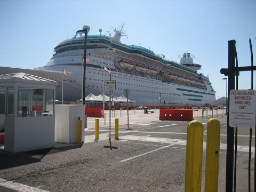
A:
MULTIPOLYGON (((114 102, 127 102, 127 98, 124 97, 124 95, 121 95, 120 97, 116 97, 114 96, 113 99, 111 97, 111 101, 114 100, 114 102)), ((81 102, 82 99, 77 100, 77 102, 81 102)), ((87 95, 87 97, 85 97, 85 101, 86 102, 103 102, 103 94, 100 94, 98 96, 90 93, 89 95, 87 95)), ((105 95, 105 102, 109 102, 109 97, 107 95, 105 95)), ((133 102, 130 99, 128 99, 128 102, 133 102)))

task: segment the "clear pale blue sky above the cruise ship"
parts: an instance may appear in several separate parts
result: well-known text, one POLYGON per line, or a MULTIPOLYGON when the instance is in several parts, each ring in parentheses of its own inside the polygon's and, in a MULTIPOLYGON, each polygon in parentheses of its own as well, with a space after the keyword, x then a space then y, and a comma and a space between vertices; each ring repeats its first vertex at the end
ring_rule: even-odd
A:
MULTIPOLYGON (((125 23, 121 42, 141 45, 179 62, 195 55, 199 73, 209 75, 216 98, 226 97, 228 41, 236 40, 238 65, 251 65, 249 38, 256 58, 256 1, 0 1, 0 66, 34 69, 46 65, 60 42, 89 25, 90 35, 107 35, 125 23)), ((1 71, 0 71, 1 74, 1 71)), ((254 73, 254 89, 255 89, 254 73)), ((241 72, 238 89, 251 88, 251 73, 241 72)))

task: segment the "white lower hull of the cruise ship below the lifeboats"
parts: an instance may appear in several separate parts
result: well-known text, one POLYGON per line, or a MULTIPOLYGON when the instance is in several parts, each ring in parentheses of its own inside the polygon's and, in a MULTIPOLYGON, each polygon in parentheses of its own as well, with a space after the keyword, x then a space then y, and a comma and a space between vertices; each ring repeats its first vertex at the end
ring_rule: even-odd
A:
MULTIPOLYGON (((44 78, 53 79, 59 82, 56 86, 56 99, 61 100, 62 74, 60 71, 62 70, 62 66, 49 66, 43 68, 58 70, 58 73, 9 67, 0 67, 0 73, 9 74, 24 72, 44 78)), ((69 76, 65 75, 64 79, 70 79, 75 82, 64 82, 63 100, 76 101, 81 99, 83 71, 82 66, 65 66, 65 69, 69 71, 69 76)), ((86 95, 90 93, 95 95, 101 94, 103 92, 103 82, 106 80, 109 80, 109 73, 104 72, 103 69, 86 67, 86 95)), ((138 105, 145 104, 149 106, 159 103, 159 92, 161 92, 161 103, 165 101, 165 103, 179 103, 182 105, 202 105, 215 100, 215 95, 210 91, 172 83, 163 83, 162 81, 146 77, 113 72, 111 73, 111 80, 116 80, 117 83, 116 90, 114 91, 115 95, 123 95, 124 89, 130 89, 131 96, 129 99, 135 100, 138 105)), ((106 94, 109 95, 108 91, 106 91, 106 94)))

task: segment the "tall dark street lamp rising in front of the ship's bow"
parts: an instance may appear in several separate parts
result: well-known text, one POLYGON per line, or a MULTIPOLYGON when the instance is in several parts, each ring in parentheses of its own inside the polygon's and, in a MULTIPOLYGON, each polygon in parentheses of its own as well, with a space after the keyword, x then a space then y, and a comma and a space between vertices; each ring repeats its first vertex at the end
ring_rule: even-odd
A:
POLYGON ((77 34, 84 34, 84 73, 83 73, 83 105, 85 105, 85 73, 86 73, 86 41, 87 41, 87 34, 90 31, 90 27, 85 25, 83 29, 76 31, 77 34))

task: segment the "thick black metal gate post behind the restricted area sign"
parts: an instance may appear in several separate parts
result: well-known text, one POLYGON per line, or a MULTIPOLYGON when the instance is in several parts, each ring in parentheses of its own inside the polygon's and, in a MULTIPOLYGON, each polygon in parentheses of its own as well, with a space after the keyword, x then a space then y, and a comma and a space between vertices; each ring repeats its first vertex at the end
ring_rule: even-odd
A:
MULTIPOLYGON (((228 41, 228 98, 230 90, 235 89, 235 45, 236 41, 228 41)), ((229 100, 228 100, 228 109, 229 100)), ((229 122, 229 115, 227 118, 229 122)), ((227 157, 226 157, 226 191, 233 191, 234 174, 234 127, 227 125, 227 157)))

